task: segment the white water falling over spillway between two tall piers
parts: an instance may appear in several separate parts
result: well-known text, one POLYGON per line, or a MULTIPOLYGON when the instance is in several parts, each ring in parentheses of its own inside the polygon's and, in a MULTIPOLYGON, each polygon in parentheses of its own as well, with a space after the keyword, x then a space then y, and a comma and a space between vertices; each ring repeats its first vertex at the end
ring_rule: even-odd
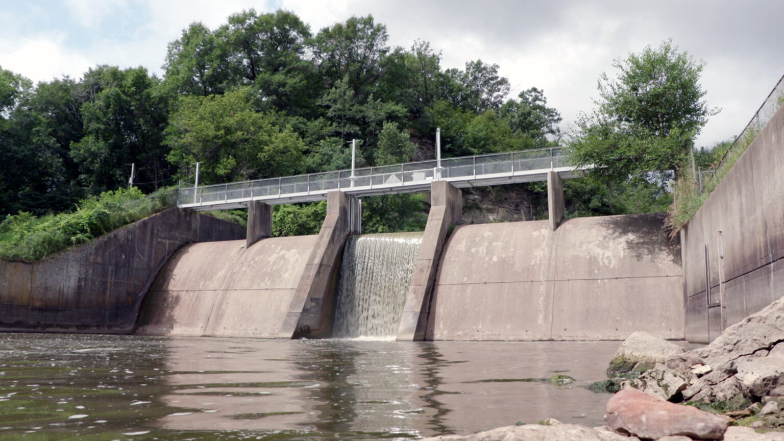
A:
POLYGON ((423 233, 350 236, 340 267, 335 337, 394 337, 423 233))

